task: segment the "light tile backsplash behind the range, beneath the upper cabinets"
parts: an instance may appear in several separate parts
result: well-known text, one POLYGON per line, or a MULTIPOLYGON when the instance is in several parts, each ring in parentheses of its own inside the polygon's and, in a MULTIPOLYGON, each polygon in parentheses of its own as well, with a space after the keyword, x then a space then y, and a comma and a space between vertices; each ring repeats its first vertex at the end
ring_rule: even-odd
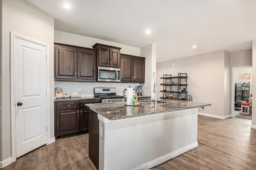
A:
POLYGON ((145 83, 118 83, 118 82, 66 82, 55 81, 55 88, 60 87, 63 89, 63 94, 77 93, 82 96, 94 96, 94 88, 116 88, 117 95, 123 96, 124 89, 131 88, 137 90, 138 86, 142 87, 143 95, 150 96, 150 82, 145 83))

